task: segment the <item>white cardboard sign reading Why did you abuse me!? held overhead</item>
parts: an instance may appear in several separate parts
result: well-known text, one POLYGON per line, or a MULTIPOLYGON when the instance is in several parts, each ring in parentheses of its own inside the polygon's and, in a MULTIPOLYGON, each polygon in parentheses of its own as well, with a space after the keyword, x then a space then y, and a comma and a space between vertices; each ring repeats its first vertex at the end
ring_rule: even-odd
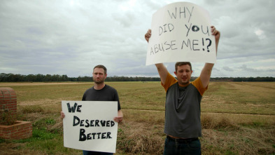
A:
POLYGON ((177 2, 160 8, 152 17, 146 65, 162 62, 216 62, 215 36, 204 8, 177 2))

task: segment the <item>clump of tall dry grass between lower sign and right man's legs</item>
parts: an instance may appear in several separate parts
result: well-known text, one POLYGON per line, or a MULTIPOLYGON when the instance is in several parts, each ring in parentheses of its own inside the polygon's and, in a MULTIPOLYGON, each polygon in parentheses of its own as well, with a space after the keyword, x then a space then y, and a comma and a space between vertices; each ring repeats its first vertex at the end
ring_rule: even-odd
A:
POLYGON ((144 123, 124 123, 118 130, 118 149, 123 154, 162 154, 163 135, 155 132, 160 126, 144 123))

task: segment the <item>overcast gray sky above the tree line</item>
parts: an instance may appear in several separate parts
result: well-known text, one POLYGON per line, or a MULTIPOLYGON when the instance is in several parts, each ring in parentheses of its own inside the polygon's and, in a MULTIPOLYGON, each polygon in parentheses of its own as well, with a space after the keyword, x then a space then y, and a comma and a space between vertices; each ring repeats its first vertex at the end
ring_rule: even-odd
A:
MULTIPOLYGON (((0 73, 92 76, 158 76, 146 66, 144 34, 158 9, 177 1, 0 2, 0 73)), ((274 0, 192 0, 221 32, 212 77, 275 77, 274 0)), ((174 62, 164 63, 170 73, 174 62)), ((204 65, 192 63, 192 76, 204 65)))

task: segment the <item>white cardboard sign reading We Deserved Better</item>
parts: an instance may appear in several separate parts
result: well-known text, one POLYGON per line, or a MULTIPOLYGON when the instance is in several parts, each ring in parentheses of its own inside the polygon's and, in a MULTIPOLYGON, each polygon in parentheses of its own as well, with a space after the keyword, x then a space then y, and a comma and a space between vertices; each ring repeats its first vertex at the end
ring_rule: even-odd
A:
POLYGON ((62 101, 64 147, 115 153, 117 101, 62 101))

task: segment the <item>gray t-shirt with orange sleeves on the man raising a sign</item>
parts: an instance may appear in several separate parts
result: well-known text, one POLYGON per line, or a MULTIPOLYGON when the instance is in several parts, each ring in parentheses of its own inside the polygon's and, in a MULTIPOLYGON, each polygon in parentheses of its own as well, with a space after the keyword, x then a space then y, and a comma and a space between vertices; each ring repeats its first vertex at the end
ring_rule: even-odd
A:
POLYGON ((201 93, 203 94, 207 88, 202 88, 199 78, 185 87, 178 86, 178 82, 171 74, 167 76, 167 79, 166 83, 170 86, 164 86, 164 88, 168 88, 164 133, 183 138, 202 137, 200 102, 202 100, 201 93))

